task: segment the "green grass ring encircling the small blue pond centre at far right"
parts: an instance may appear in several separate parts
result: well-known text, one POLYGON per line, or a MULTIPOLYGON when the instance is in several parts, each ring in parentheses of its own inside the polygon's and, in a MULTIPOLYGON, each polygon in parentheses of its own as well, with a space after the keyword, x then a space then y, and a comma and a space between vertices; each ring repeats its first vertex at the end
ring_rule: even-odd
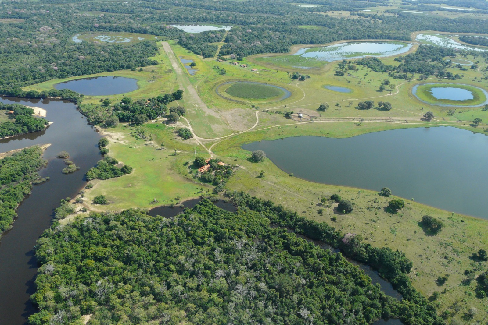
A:
POLYGON ((470 85, 456 84, 456 83, 436 83, 436 84, 419 84, 415 95, 421 100, 437 105, 454 105, 454 106, 476 106, 484 105, 487 102, 487 97, 480 88, 470 85), (432 95, 433 88, 460 88, 468 90, 472 95, 472 99, 465 100, 450 100, 445 98, 436 98, 432 95))

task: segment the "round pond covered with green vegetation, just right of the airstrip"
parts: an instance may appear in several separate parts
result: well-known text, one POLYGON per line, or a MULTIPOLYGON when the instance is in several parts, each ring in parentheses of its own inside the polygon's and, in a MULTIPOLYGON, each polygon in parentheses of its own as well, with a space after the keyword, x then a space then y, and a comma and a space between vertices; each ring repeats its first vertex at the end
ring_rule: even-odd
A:
POLYGON ((283 87, 252 81, 229 81, 217 87, 217 94, 233 101, 268 101, 283 100, 291 92, 283 87))

